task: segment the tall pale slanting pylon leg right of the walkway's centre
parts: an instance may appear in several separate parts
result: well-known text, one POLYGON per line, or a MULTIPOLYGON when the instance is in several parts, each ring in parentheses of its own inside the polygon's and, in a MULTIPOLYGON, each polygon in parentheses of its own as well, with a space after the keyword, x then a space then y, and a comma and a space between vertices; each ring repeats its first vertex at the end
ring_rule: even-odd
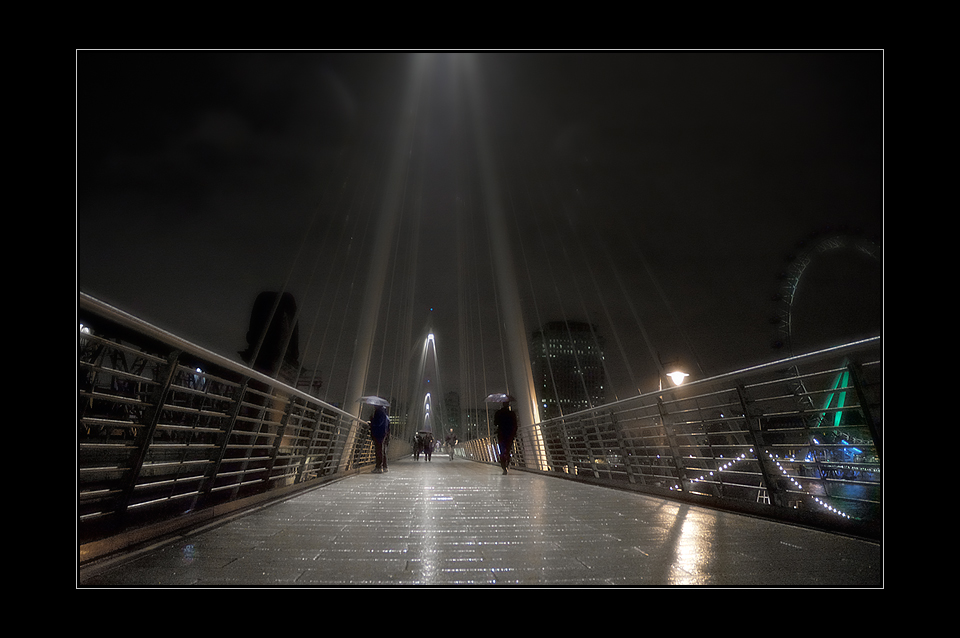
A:
POLYGON ((497 287, 503 302, 503 325, 506 330, 510 369, 514 383, 514 387, 506 390, 508 394, 512 394, 517 399, 521 431, 527 435, 527 449, 534 451, 533 457, 538 467, 545 469, 546 458, 543 454, 540 434, 540 410, 537 406, 533 370, 530 366, 530 349, 527 344, 526 327, 523 323, 520 292, 517 288, 516 269, 513 263, 513 254, 510 250, 510 235, 507 232, 500 185, 493 166, 493 149, 490 148, 489 135, 485 130, 484 104, 481 98, 483 92, 482 87, 479 86, 480 72, 477 68, 477 57, 474 54, 463 54, 458 56, 457 59, 460 61, 460 70, 466 78, 468 99, 472 106, 474 134, 480 162, 480 179, 485 196, 483 205, 490 225, 494 263, 497 269, 497 287))

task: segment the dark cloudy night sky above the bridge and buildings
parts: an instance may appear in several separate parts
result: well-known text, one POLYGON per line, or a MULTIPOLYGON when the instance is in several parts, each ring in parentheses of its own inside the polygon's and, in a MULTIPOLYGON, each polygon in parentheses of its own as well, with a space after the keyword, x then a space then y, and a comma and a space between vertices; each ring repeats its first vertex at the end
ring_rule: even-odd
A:
MULTIPOLYGON (((78 51, 77 287, 237 361, 257 293, 292 292, 302 361, 339 402, 389 207, 368 391, 402 393, 429 325, 443 388, 475 402, 509 384, 495 192, 528 334, 597 324, 617 397, 654 389, 654 352, 696 377, 772 360, 785 265, 824 233, 882 244, 883 64, 882 51, 78 51), (414 64, 427 70, 408 110, 414 64)), ((845 251, 815 259, 794 348, 879 333, 882 273, 845 251)))

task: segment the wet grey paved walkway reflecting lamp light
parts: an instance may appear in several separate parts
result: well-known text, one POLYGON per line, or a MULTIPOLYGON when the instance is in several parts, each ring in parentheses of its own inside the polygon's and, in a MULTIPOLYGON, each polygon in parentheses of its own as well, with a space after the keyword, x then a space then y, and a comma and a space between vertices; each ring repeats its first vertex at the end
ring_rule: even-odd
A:
POLYGON ((435 456, 81 570, 83 587, 883 586, 876 543, 435 456))

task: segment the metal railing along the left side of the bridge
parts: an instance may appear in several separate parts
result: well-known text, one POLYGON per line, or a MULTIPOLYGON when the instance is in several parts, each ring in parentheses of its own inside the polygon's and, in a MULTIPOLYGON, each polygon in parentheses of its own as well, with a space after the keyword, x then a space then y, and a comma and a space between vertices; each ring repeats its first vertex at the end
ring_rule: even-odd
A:
POLYGON ((373 464, 357 417, 88 295, 78 315, 81 560, 373 464))

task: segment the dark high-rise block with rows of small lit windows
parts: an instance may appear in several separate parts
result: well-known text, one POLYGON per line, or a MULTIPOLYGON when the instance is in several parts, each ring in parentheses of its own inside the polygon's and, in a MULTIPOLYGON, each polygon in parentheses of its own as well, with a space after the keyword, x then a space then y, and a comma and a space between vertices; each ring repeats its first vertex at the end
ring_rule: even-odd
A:
POLYGON ((577 321, 544 324, 530 340, 530 364, 541 419, 604 403, 603 339, 595 325, 577 321))

